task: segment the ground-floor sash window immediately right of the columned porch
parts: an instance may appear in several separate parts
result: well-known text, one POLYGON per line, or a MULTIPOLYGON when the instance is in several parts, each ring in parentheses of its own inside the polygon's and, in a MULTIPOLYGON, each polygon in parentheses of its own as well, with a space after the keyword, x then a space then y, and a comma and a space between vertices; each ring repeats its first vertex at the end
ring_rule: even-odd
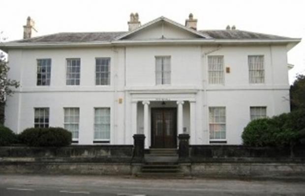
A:
POLYGON ((226 109, 225 107, 209 108, 210 139, 226 139, 226 109))

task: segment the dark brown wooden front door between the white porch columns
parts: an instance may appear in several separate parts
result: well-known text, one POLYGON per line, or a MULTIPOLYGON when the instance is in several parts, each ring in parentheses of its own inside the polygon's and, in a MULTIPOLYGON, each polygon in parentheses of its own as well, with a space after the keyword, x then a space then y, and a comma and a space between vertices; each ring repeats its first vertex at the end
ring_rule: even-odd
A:
POLYGON ((176 108, 152 108, 152 148, 177 147, 176 108))

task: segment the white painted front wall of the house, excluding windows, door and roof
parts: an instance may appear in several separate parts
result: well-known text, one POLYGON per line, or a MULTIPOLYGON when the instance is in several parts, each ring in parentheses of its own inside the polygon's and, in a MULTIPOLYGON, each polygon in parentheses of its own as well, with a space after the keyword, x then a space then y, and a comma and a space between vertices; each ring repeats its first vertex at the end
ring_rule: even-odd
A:
POLYGON ((33 127, 34 108, 49 108, 49 126, 63 127, 64 108, 79 108, 78 143, 93 144, 94 108, 110 108, 109 143, 132 144, 132 135, 143 133, 149 147, 151 110, 170 107, 177 134, 189 133, 190 144, 241 144, 250 107, 266 107, 267 116, 290 111, 288 42, 192 43, 185 40, 197 34, 166 25, 163 34, 180 41, 145 43, 159 37, 161 27, 152 23, 109 45, 8 48, 9 78, 21 87, 7 99, 5 125, 20 133, 33 127), (156 85, 156 56, 170 56, 170 84, 156 85), (209 56, 223 56, 223 84, 209 84, 209 56), (262 84, 249 83, 248 56, 263 56, 262 84), (110 85, 95 85, 98 57, 111 59, 110 85), (44 58, 52 59, 50 85, 37 86, 37 59, 44 58), (80 85, 66 85, 67 58, 81 60, 80 85), (210 139, 209 107, 225 107, 225 138, 210 139))

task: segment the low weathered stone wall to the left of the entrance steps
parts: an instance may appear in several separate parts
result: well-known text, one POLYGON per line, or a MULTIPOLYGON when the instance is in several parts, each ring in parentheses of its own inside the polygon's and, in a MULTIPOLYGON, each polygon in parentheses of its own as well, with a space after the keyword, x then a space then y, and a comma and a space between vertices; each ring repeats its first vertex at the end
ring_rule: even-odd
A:
POLYGON ((132 145, 0 147, 0 173, 130 175, 132 145))

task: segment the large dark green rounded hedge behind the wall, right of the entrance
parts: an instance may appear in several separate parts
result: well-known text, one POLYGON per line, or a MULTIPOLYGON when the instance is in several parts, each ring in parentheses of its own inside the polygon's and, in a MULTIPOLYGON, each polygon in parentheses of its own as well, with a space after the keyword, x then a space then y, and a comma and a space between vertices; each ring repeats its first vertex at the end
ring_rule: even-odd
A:
POLYGON ((248 123, 242 134, 244 145, 293 146, 305 139, 305 110, 283 113, 248 123))

